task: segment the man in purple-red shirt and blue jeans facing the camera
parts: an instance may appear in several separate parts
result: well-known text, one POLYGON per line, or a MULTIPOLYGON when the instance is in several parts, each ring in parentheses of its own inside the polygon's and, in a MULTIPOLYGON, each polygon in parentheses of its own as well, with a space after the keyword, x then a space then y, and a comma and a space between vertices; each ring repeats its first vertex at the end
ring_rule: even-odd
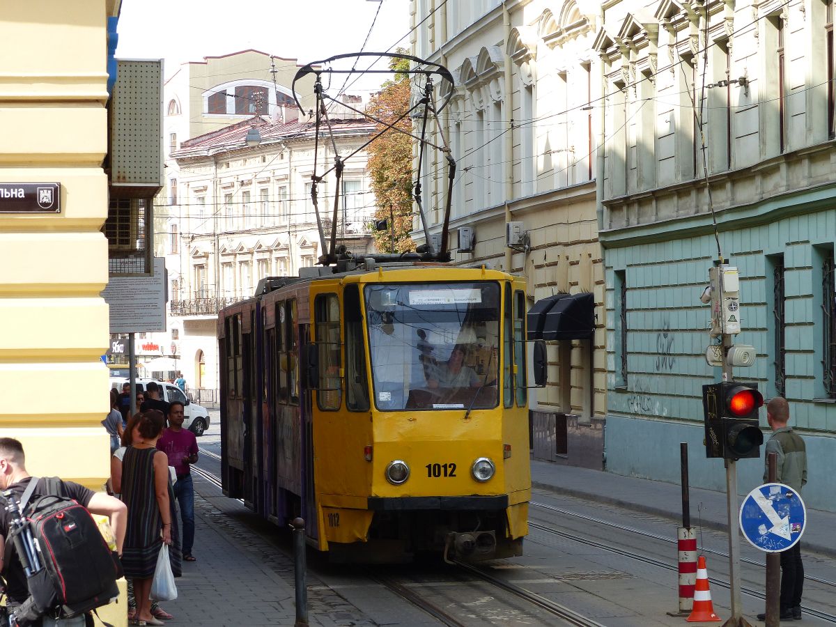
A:
POLYGON ((195 487, 191 482, 191 464, 197 462, 197 439, 195 434, 183 429, 183 404, 172 401, 168 410, 168 428, 162 432, 157 448, 168 456, 168 465, 174 466, 177 481, 174 496, 180 503, 180 517, 183 521, 183 559, 194 562, 191 547, 195 543, 195 487))

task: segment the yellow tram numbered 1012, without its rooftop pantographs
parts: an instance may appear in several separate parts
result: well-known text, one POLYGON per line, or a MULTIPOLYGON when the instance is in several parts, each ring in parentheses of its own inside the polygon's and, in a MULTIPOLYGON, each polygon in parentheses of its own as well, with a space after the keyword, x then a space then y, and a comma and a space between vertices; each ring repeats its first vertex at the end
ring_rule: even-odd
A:
MULTIPOLYGON (((224 493, 336 560, 522 553, 525 287, 371 263, 263 279, 218 320, 224 493)), ((544 364, 541 364, 544 369, 544 364)))

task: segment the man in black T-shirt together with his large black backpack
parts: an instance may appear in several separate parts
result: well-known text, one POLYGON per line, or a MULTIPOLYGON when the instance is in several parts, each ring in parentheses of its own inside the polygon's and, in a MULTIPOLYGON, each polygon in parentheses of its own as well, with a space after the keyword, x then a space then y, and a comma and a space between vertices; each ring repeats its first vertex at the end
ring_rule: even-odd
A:
POLYGON ((0 490, 0 563, 16 624, 83 625, 84 614, 118 594, 122 576, 90 513, 110 518, 121 555, 125 504, 75 482, 31 477, 23 445, 10 437, 0 437, 0 490))

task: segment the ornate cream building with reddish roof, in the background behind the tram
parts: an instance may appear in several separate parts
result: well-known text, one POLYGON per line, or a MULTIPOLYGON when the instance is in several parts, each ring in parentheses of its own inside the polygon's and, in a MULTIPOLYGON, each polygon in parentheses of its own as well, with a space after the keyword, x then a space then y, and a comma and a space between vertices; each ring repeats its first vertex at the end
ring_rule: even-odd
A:
MULTIPOLYGON (((342 156, 374 130, 360 120, 332 120, 332 127, 342 156)), ((298 275, 323 253, 311 200, 314 135, 313 122, 250 116, 171 153, 179 173, 176 213, 160 242, 169 281, 167 330, 147 339, 176 359, 195 400, 217 400, 220 308, 252 297, 262 278, 298 275), (253 128, 261 143, 250 146, 253 128)), ((360 256, 372 249, 368 225, 375 212, 366 160, 361 150, 345 161, 339 182, 337 245, 360 256)), ((330 140, 320 140, 317 161, 319 174, 333 166, 330 140)), ((335 191, 332 172, 317 188, 326 237, 335 191)))

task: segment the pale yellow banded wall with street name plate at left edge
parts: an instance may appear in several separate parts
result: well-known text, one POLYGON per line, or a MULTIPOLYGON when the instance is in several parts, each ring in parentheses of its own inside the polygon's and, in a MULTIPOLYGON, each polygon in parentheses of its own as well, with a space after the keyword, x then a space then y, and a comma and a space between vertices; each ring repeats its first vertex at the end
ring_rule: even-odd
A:
POLYGON ((5 3, 0 181, 61 184, 59 214, 0 213, 0 432, 28 470, 100 490, 108 410, 106 18, 118 0, 5 3))

